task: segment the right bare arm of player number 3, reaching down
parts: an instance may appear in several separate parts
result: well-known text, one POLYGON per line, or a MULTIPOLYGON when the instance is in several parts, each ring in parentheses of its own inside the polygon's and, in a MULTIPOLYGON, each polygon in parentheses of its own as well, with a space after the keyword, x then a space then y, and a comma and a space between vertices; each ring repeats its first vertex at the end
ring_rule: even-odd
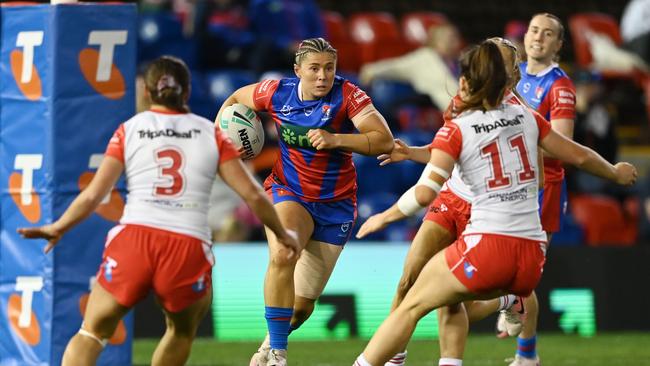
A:
POLYGON ((286 230, 282 226, 273 205, 264 193, 264 189, 246 170, 240 159, 230 159, 220 164, 219 175, 246 202, 255 216, 273 231, 281 244, 290 249, 293 254, 299 252, 300 247, 296 233, 286 230))

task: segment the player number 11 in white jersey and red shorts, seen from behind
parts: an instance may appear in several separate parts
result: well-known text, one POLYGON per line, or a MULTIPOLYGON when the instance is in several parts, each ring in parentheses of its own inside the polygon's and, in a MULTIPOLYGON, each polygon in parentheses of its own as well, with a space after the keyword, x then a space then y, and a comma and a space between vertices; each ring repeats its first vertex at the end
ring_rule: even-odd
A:
MULTIPOLYGON (((469 299, 530 294, 541 277, 546 248, 537 209, 538 143, 619 184, 636 180, 630 164, 612 166, 555 133, 526 106, 502 103, 506 86, 503 58, 493 42, 483 42, 461 58, 460 114, 436 135, 418 183, 389 209, 386 220, 367 227, 380 230, 428 205, 459 164, 472 191, 471 221, 454 244, 425 265, 355 365, 383 365, 404 349, 417 321, 433 309, 469 299)), ((441 364, 461 365, 462 360, 441 364)))

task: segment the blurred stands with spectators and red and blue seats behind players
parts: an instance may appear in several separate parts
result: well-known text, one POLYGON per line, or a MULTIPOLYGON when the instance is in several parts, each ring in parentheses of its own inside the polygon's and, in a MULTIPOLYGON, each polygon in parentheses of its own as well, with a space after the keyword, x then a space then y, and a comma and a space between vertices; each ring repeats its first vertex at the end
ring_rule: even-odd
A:
MULTIPOLYGON (((650 0, 142 0, 138 7, 139 64, 162 54, 182 58, 192 69, 194 113, 214 119, 237 88, 293 76, 300 40, 325 37, 338 49, 337 73, 366 90, 395 137, 411 145, 428 144, 441 127, 464 48, 502 36, 523 54, 531 16, 555 14, 566 29, 560 66, 577 92, 575 139, 611 162, 635 163, 641 179, 618 188, 568 168, 568 215, 553 243, 650 244, 650 0)), ((249 164, 260 180, 277 153, 276 130, 262 117, 266 147, 249 164)), ((379 167, 360 155, 354 163, 357 227, 394 203, 422 169, 408 162, 379 167)), ((215 241, 263 239, 259 222, 224 184, 215 182, 212 200, 215 241)), ((410 240, 420 220, 369 240, 410 240)))

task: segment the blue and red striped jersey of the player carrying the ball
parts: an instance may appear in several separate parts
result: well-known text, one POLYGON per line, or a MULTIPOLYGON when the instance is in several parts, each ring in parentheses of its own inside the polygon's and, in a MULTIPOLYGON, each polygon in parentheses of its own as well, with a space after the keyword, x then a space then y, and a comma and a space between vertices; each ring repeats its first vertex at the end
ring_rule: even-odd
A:
POLYGON ((300 79, 264 80, 255 88, 255 109, 268 111, 278 131, 280 152, 267 185, 283 184, 305 201, 337 201, 356 196, 357 179, 352 153, 316 150, 307 132, 355 131, 350 120, 372 103, 356 85, 337 76, 332 90, 317 100, 302 100, 300 79))

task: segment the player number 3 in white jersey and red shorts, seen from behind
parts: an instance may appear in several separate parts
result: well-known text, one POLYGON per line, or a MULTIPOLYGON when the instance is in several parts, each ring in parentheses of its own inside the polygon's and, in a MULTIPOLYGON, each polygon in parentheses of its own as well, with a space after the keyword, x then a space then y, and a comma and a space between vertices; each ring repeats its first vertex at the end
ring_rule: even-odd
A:
POLYGON ((119 126, 89 186, 50 225, 20 228, 26 238, 61 236, 89 216, 122 173, 127 202, 107 235, 79 332, 63 354, 64 366, 94 365, 120 319, 153 290, 167 330, 152 365, 184 365, 212 300, 208 198, 218 173, 295 258, 295 233, 285 230, 262 187, 247 173, 230 140, 214 124, 189 113, 190 74, 178 59, 161 57, 145 73, 151 109, 119 126), (160 133, 173 130, 175 134, 160 133))

